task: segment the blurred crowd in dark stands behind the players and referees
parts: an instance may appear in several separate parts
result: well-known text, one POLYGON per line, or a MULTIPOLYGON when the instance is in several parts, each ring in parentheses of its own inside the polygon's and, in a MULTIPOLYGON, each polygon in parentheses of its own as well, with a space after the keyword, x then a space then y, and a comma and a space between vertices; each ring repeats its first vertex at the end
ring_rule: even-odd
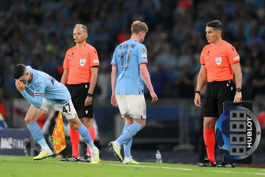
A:
MULTIPOLYGON (((263 0, 11 0, 0 2, 0 103, 22 97, 12 77, 15 64, 30 65, 60 81, 77 23, 86 25, 87 43, 98 51, 99 104, 109 102, 113 51, 130 38, 135 20, 149 28, 143 44, 158 98, 194 98, 200 54, 207 45, 205 25, 212 20, 222 22, 223 40, 240 55, 243 100, 265 94, 263 0)), ((257 104, 257 115, 264 117, 264 103, 257 104)))

